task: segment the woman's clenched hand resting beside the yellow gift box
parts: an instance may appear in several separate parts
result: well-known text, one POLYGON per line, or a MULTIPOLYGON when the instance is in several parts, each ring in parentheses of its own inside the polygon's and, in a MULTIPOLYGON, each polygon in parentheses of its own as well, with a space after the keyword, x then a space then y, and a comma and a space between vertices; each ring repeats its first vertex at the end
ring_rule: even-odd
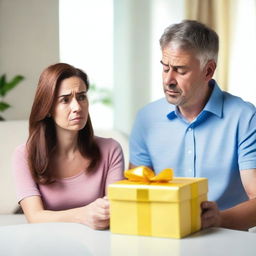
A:
POLYGON ((84 206, 84 224, 93 229, 106 229, 109 227, 109 202, 106 197, 98 198, 84 206))

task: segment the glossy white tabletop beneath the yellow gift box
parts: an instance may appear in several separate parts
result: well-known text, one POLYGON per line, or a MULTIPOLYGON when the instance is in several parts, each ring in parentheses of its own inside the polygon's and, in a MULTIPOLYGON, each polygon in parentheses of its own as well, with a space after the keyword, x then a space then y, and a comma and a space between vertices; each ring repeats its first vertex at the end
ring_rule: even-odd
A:
POLYGON ((211 228, 183 239, 111 234, 75 223, 0 227, 1 256, 255 256, 256 234, 211 228))

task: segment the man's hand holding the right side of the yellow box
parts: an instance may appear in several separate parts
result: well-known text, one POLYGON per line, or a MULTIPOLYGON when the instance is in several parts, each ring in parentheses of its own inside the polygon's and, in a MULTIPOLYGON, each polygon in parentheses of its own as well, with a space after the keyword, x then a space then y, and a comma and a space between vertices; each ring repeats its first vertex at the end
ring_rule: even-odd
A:
POLYGON ((219 227, 221 225, 220 210, 215 202, 204 201, 201 203, 201 228, 219 227))

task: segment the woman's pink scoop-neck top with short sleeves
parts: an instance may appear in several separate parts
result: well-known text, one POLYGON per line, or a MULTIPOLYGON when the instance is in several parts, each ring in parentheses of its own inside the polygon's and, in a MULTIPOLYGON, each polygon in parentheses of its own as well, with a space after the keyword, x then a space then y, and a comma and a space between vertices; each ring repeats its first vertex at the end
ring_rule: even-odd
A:
POLYGON ((123 179, 123 152, 119 143, 113 139, 96 137, 96 141, 102 160, 94 173, 81 171, 48 185, 34 182, 28 167, 26 145, 18 146, 13 158, 18 201, 39 195, 45 209, 57 211, 81 207, 105 196, 108 184, 123 179))

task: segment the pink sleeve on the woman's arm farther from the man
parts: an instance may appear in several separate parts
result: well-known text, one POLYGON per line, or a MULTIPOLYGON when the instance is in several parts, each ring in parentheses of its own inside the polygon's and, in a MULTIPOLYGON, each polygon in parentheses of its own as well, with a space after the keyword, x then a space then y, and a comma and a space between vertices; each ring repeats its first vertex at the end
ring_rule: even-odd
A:
POLYGON ((14 151, 12 166, 18 202, 26 197, 40 196, 40 191, 29 170, 25 145, 18 146, 14 151))

